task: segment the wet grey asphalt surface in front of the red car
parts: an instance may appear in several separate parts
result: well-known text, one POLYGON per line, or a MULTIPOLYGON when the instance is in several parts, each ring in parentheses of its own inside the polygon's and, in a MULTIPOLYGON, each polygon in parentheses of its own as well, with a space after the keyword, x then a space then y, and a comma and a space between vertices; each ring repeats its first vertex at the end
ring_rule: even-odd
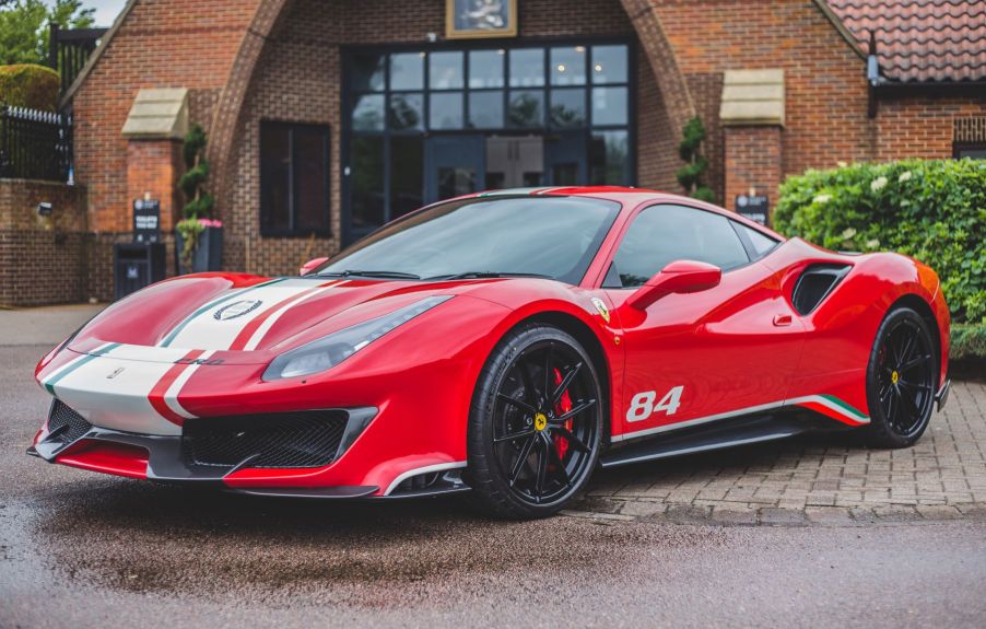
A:
POLYGON ((504 523, 451 500, 262 500, 47 465, 24 450, 47 407, 32 368, 50 342, 19 345, 34 318, 8 314, 0 627, 986 624, 983 517, 504 523))

